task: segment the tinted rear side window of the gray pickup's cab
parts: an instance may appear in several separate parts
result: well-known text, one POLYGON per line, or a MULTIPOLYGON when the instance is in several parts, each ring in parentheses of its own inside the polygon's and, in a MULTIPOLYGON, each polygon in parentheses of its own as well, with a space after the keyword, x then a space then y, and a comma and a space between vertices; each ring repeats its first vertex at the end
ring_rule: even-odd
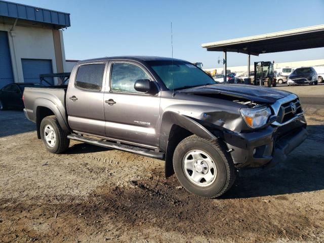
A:
POLYGON ((79 66, 75 78, 75 87, 100 91, 102 88, 104 63, 79 66))

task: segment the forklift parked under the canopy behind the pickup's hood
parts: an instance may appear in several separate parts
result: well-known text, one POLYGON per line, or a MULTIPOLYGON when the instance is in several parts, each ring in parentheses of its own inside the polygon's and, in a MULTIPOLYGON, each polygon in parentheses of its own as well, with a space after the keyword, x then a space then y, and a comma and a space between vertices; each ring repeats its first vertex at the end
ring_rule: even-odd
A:
POLYGON ((254 62, 254 85, 276 87, 277 80, 273 73, 274 62, 254 62))

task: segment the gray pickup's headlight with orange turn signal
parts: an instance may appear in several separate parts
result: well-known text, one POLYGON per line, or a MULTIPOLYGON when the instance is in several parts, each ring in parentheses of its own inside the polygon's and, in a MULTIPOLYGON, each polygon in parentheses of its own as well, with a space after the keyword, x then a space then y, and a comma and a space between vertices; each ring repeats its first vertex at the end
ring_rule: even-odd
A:
POLYGON ((256 109, 241 108, 240 112, 245 122, 251 128, 261 128, 267 123, 268 118, 271 115, 271 109, 269 107, 256 109))

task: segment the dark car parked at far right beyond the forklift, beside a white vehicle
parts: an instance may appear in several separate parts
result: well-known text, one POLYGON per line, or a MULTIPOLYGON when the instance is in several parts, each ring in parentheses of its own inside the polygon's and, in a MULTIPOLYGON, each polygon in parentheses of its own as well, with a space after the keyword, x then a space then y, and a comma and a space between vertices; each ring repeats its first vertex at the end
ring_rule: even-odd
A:
POLYGON ((288 76, 288 86, 291 85, 317 85, 318 76, 313 67, 296 68, 292 74, 288 76))

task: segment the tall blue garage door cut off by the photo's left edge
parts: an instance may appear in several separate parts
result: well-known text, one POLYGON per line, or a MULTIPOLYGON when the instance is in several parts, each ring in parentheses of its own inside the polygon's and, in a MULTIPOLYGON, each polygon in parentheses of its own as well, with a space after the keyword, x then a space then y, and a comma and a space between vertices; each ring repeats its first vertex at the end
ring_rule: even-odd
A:
POLYGON ((0 88, 14 83, 11 57, 8 43, 8 32, 0 31, 0 88))

